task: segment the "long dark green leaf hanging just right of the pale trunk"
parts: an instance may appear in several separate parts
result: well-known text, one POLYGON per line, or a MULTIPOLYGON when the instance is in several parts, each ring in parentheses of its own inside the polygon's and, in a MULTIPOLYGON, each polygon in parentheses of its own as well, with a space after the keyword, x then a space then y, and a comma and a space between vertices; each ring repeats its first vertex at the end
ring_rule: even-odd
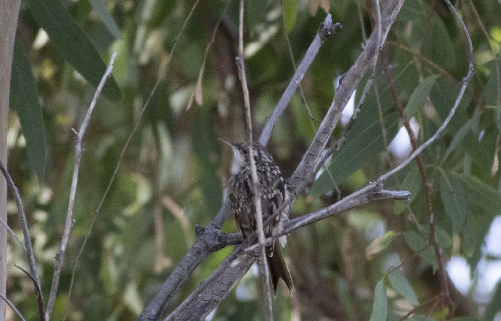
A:
POLYGON ((11 108, 16 111, 26 138, 30 166, 38 180, 44 179, 45 130, 37 83, 23 45, 16 39, 12 60, 11 108))

